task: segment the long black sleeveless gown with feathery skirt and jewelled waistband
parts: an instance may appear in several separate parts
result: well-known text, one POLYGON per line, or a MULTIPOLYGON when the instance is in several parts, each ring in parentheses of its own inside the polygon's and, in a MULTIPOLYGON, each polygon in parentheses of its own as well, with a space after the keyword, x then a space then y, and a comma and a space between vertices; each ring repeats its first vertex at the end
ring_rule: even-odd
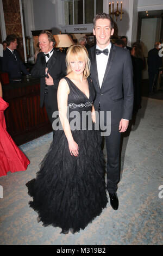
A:
MULTIPOLYGON (((90 92, 88 99, 69 78, 65 79, 70 88, 70 117, 73 111, 77 111, 80 121, 83 121, 82 114, 91 113, 95 97, 92 81, 90 78, 87 80, 90 92)), ((69 123, 73 120, 70 118, 69 123)), ((79 146, 79 155, 71 156, 64 131, 55 131, 53 142, 41 163, 36 179, 26 184, 28 194, 33 197, 29 205, 39 214, 39 220, 44 226, 52 224, 60 227, 64 234, 69 229, 72 233, 84 229, 101 214, 108 203, 101 135, 94 125, 90 129, 91 114, 83 123, 86 127, 83 130, 71 130, 73 139, 79 146)))

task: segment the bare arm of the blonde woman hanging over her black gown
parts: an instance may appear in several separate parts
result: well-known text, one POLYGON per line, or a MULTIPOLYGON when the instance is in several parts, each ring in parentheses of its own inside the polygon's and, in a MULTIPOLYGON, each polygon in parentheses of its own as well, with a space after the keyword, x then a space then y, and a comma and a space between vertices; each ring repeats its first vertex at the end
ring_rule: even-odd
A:
POLYGON ((67 100, 69 94, 69 87, 65 79, 61 79, 57 91, 57 101, 59 109, 59 118, 62 127, 65 132, 65 136, 68 141, 68 147, 70 149, 71 155, 78 155, 78 144, 73 140, 72 132, 70 129, 70 124, 67 119, 67 100))

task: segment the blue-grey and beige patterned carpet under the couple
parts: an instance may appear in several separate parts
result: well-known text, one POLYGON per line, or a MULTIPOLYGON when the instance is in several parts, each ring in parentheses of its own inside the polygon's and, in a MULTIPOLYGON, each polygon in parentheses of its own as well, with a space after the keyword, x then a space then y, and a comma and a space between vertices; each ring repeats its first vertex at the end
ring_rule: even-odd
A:
POLYGON ((22 145, 31 162, 28 169, 0 178, 4 192, 0 199, 0 244, 162 245, 162 107, 163 101, 144 97, 130 135, 124 136, 118 211, 109 202, 101 216, 74 235, 60 234, 60 228, 43 227, 28 205, 30 197, 25 184, 35 178, 52 133, 22 145))

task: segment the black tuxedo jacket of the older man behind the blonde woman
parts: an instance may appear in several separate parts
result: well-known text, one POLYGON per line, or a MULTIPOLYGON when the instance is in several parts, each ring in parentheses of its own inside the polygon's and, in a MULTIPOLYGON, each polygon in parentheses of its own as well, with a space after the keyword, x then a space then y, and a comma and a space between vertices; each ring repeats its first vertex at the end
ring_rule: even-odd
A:
MULTIPOLYGON (((62 77, 66 76, 66 62, 65 62, 66 54, 62 52, 58 52, 54 49, 51 58, 49 58, 47 62, 48 73, 52 76, 54 85, 47 86, 48 90, 48 102, 49 105, 52 106, 53 111, 58 109, 57 105, 57 89, 59 81, 62 77)), ((31 71, 31 75, 36 78, 40 78, 40 107, 43 106, 44 97, 45 97, 45 69, 46 69, 46 61, 45 54, 40 52, 37 54, 36 63, 34 68, 31 71)))

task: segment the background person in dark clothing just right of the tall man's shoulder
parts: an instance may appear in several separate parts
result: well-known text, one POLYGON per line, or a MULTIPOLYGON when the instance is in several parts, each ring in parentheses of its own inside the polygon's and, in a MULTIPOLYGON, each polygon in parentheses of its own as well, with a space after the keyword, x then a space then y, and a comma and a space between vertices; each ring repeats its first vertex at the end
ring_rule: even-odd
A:
POLYGON ((142 47, 139 42, 134 42, 133 48, 130 51, 133 63, 133 84, 134 84, 134 107, 133 113, 136 113, 141 108, 142 94, 142 70, 144 69, 144 56, 142 47))

